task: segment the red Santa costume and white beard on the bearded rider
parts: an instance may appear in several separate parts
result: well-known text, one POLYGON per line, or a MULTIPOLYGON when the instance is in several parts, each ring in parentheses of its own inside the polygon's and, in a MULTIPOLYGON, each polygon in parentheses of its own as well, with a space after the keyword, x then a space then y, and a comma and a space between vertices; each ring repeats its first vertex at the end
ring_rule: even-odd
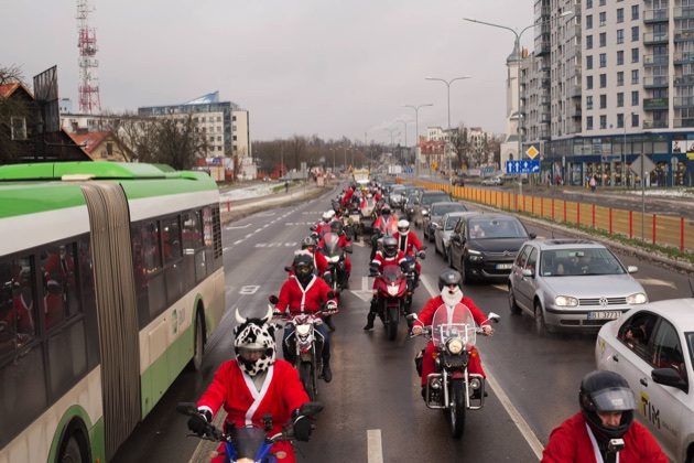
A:
MULTIPOLYGON (((414 322, 414 325, 415 326, 419 325, 422 327, 431 325, 432 320, 434 317, 434 313, 436 312, 436 309, 438 309, 443 304, 446 304, 446 306, 452 308, 458 302, 466 305, 470 310, 470 313, 473 314, 473 319, 475 319, 475 323, 481 324, 482 322, 487 320, 487 316, 482 313, 481 310, 477 308, 477 305, 475 305, 475 302, 473 302, 470 298, 463 297, 463 291, 459 288, 457 288, 455 292, 451 293, 449 289, 445 287, 443 288, 441 295, 432 298, 429 300, 429 302, 426 302, 426 305, 424 305, 424 309, 422 309, 422 311, 418 314, 419 320, 414 322)), ((435 357, 436 357, 436 347, 434 346, 434 343, 430 341, 426 344, 426 349, 424 351, 424 357, 422 358, 422 386, 426 386, 426 377, 429 376, 429 374, 434 373, 434 368, 435 368, 434 358, 435 357)), ((481 367, 479 353, 477 352, 477 348, 475 347, 473 347, 473 351, 470 352, 470 358, 467 364, 467 370, 469 373, 479 374, 486 377, 485 372, 482 370, 482 367, 481 367)))

